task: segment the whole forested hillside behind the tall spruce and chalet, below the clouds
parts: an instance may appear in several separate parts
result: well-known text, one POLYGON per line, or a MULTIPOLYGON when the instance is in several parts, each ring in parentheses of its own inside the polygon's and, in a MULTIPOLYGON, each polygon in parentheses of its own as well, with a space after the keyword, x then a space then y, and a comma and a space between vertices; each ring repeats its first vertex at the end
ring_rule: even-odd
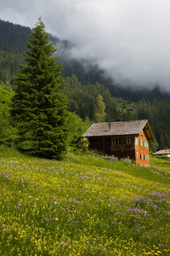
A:
MULTIPOLYGON (((8 135, 14 137, 12 124, 8 117, 10 97, 13 95, 14 73, 20 64, 25 62, 23 53, 28 50, 26 41, 30 40, 30 33, 29 27, 0 20, 0 116, 3 119, 0 127, 1 143, 8 142, 8 135)), ((118 118, 122 120, 149 119, 156 137, 156 143, 151 145, 151 148, 154 150, 158 146, 170 148, 169 94, 162 93, 158 85, 153 90, 146 88, 136 90, 129 84, 128 86, 116 84, 111 78, 105 76, 104 70, 90 61, 69 58, 67 53, 74 47, 71 42, 52 35, 50 35, 50 40, 54 47, 59 49, 57 55, 59 55, 59 63, 63 66, 62 76, 65 77, 67 84, 64 93, 68 96, 68 110, 74 113, 70 115, 70 118, 72 125, 77 125, 75 129, 77 135, 81 135, 93 121, 98 121, 96 112, 98 99, 101 96, 101 103, 104 103, 105 107, 105 121, 116 121, 118 118), (130 113, 127 108, 118 108, 115 97, 135 102, 137 111, 130 113)), ((77 135, 72 134, 71 141, 77 135)))

